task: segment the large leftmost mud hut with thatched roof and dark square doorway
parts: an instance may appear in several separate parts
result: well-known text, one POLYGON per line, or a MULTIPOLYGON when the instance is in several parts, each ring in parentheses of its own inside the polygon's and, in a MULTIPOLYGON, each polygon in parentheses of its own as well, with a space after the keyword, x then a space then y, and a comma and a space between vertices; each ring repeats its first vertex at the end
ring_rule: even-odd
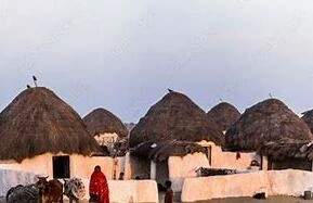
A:
POLYGON ((0 113, 2 169, 88 178, 95 163, 105 165, 91 156, 97 150, 80 116, 47 88, 23 91, 0 113))

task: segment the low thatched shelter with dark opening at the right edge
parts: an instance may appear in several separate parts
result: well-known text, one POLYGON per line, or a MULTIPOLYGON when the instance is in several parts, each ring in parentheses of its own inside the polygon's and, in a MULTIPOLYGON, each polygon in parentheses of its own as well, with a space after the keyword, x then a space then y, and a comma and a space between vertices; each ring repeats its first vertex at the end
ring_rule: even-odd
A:
POLYGON ((263 169, 302 169, 312 172, 313 142, 284 138, 260 147, 263 169))

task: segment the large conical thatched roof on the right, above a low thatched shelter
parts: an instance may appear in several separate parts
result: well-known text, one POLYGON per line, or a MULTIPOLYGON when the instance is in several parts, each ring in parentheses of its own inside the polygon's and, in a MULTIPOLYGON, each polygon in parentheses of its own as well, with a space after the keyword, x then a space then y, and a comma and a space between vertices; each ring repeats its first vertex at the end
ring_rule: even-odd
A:
POLYGON ((269 141, 290 138, 311 140, 307 124, 282 101, 269 99, 246 110, 226 131, 225 148, 231 151, 256 151, 269 141))

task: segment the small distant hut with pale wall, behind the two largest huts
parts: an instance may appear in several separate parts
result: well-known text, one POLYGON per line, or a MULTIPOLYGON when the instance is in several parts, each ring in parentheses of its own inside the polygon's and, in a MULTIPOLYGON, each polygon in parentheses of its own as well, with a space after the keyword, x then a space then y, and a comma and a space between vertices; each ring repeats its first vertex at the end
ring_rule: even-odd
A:
POLYGON ((128 150, 128 129, 113 113, 96 109, 83 117, 89 134, 102 147, 104 155, 123 156, 128 150))

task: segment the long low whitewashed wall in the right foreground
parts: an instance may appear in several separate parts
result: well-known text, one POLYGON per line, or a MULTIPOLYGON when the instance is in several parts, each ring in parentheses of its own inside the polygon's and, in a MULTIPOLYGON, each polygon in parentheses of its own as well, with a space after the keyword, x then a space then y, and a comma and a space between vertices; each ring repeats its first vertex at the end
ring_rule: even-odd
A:
POLYGON ((260 170, 249 174, 187 178, 182 202, 195 202, 231 196, 252 196, 264 191, 268 195, 303 195, 313 189, 313 173, 304 170, 260 170))

